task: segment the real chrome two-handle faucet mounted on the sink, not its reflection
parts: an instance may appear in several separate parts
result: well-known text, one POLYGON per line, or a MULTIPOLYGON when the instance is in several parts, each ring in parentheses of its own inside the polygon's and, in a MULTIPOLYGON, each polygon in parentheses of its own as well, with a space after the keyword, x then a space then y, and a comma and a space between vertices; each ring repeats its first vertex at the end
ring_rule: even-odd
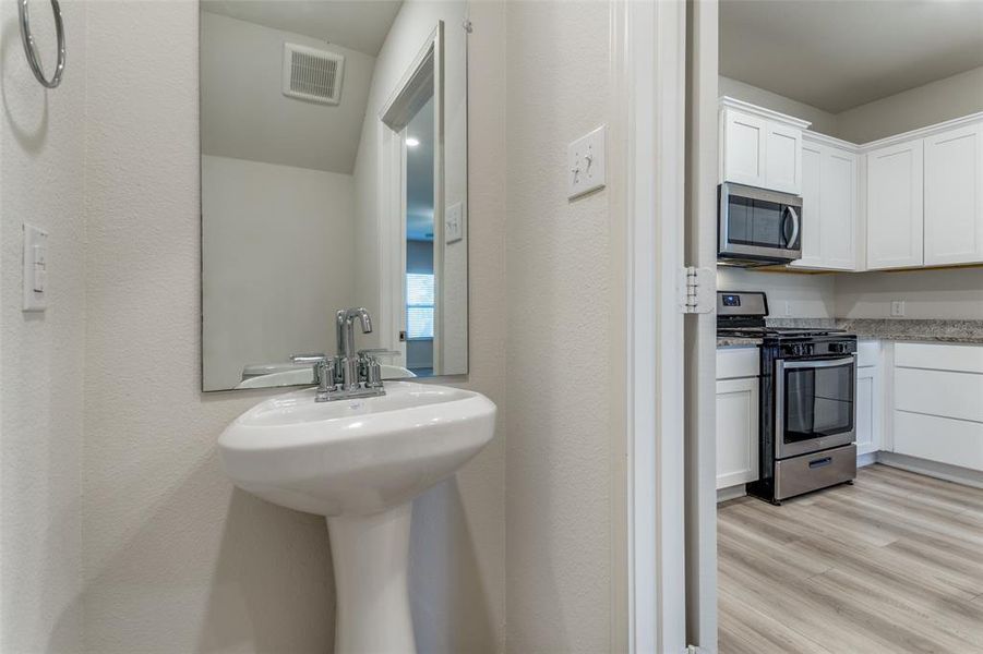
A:
POLYGON ((314 363, 315 399, 319 402, 385 395, 379 361, 369 351, 355 350, 356 320, 361 323, 362 334, 372 332, 372 318, 365 308, 339 311, 336 319, 338 352, 314 363))

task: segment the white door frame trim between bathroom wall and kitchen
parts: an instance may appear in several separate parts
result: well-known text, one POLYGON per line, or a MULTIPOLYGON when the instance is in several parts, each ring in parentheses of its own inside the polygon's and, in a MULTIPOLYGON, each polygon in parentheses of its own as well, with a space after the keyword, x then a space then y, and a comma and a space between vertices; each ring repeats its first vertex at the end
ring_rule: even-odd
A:
MULTIPOLYGON (((627 651, 684 652, 686 0, 618 2, 618 118, 626 132, 627 651)), ((616 122, 616 121, 615 121, 616 122)))

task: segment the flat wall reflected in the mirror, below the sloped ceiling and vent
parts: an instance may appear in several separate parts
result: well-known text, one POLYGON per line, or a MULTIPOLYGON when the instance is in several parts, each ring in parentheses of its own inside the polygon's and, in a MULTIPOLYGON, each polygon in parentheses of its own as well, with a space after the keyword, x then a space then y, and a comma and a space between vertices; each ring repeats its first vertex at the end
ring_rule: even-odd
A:
POLYGON ((353 203, 350 174, 202 157, 205 390, 334 352, 335 313, 355 302, 353 203))

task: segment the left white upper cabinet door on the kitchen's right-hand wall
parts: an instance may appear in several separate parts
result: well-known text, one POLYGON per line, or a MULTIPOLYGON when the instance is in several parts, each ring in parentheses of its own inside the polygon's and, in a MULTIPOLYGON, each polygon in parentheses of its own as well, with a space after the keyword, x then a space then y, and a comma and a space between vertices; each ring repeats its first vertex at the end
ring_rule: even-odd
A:
POLYGON ((922 141, 867 154, 867 268, 921 266, 922 141))

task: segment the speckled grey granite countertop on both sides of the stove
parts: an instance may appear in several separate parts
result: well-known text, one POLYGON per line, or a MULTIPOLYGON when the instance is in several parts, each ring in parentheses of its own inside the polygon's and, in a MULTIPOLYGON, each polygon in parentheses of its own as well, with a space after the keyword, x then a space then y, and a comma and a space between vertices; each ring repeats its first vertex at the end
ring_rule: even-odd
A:
MULTIPOLYGON (((912 320, 904 318, 767 318, 769 327, 843 329, 859 338, 983 344, 983 320, 912 320)), ((753 347, 760 339, 721 337, 718 348, 753 347)))

